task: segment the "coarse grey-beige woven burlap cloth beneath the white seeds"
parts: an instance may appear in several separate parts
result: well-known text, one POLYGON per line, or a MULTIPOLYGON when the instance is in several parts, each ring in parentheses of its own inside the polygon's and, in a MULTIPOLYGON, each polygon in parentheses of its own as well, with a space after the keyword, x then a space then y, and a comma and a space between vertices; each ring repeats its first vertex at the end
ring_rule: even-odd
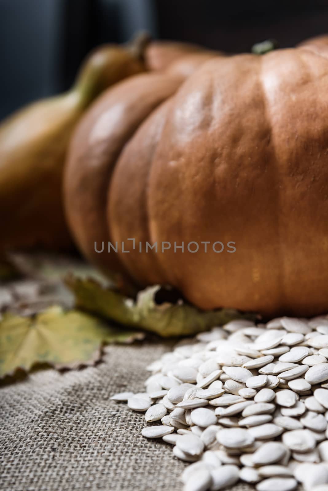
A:
POLYGON ((146 365, 168 349, 109 346, 95 367, 46 370, 0 388, 0 489, 182 490, 187 464, 171 445, 141 436, 142 414, 109 400, 115 392, 143 391, 146 365))

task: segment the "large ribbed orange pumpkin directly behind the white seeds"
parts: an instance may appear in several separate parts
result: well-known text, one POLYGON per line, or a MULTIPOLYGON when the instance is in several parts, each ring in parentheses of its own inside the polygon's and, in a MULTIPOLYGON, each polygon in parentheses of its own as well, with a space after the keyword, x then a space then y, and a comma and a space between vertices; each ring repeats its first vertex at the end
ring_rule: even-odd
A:
POLYGON ((327 47, 177 68, 119 83, 79 124, 64 195, 82 251, 202 309, 327 311, 327 47))

